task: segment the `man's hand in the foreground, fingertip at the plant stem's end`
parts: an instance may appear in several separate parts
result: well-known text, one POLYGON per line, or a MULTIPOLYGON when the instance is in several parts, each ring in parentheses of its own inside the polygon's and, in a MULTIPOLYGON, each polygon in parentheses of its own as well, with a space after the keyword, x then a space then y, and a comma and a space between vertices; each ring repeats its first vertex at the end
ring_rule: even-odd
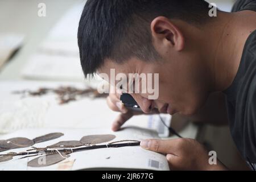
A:
POLYGON ((166 154, 172 170, 226 170, 226 167, 218 160, 216 165, 210 165, 208 152, 193 139, 148 139, 141 142, 141 147, 166 154))

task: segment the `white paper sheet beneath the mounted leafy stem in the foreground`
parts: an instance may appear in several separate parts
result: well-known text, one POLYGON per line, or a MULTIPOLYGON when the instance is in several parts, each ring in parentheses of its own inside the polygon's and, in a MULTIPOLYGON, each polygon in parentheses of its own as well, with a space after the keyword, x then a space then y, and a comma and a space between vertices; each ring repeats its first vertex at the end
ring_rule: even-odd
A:
MULTIPOLYGON (((33 139, 41 135, 60 132, 64 135, 60 138, 49 140, 47 142, 35 144, 34 147, 46 147, 51 144, 63 140, 80 140, 85 135, 97 135, 97 134, 113 134, 116 136, 111 142, 119 140, 142 140, 147 138, 159 138, 155 131, 142 129, 139 127, 126 127, 122 131, 113 132, 108 129, 38 129, 38 130, 20 130, 15 133, 5 135, 0 139, 9 139, 15 137, 26 137, 33 139)), ((109 142, 107 142, 109 143, 109 142)), ((107 144, 102 143, 102 144, 107 144)), ((28 148, 19 148, 11 150, 13 152, 26 151, 28 148)), ((10 151, 8 151, 10 152, 10 151)), ((6 154, 1 152, 0 154, 6 154)), ((87 150, 81 152, 75 152, 70 154, 70 158, 63 162, 53 164, 48 167, 27 167, 27 170, 57 170, 60 168, 61 163, 73 162, 72 170, 92 169, 92 168, 126 168, 126 169, 152 169, 152 170, 169 170, 166 156, 157 154, 152 151, 147 151, 140 146, 132 147, 120 147, 120 148, 100 148, 95 150, 87 150), (74 162, 75 161, 75 162, 74 162)), ((16 169, 16 166, 9 166, 13 164, 15 160, 19 160, 16 156, 10 163, 5 162, 2 166, 0 163, 0 169, 16 169)), ((32 160, 36 156, 29 158, 32 160)), ((18 168, 18 167, 17 167, 18 168)))

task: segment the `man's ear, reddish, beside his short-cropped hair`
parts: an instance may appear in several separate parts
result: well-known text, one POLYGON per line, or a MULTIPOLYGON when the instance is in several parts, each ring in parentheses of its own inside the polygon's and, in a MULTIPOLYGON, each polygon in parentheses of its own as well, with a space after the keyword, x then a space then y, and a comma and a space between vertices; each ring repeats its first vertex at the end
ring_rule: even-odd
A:
POLYGON ((176 51, 184 49, 182 32, 164 16, 158 16, 151 22, 151 34, 155 43, 164 43, 175 48, 176 51))

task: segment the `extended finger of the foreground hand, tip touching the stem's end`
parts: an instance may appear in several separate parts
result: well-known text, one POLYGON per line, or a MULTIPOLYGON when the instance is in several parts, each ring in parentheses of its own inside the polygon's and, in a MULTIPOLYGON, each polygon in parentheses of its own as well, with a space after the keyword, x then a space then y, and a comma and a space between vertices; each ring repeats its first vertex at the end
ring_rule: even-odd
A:
POLYGON ((147 150, 162 154, 173 154, 175 155, 179 146, 179 139, 174 140, 156 140, 156 139, 146 139, 141 142, 141 147, 147 150))

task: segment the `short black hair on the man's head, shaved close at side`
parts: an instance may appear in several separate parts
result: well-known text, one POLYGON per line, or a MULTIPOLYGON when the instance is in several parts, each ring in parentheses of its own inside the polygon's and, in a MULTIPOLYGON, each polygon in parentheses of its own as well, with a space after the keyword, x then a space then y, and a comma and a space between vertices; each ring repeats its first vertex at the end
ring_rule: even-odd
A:
POLYGON ((137 57, 159 59, 152 44, 150 24, 157 16, 200 24, 208 22, 204 0, 88 0, 82 11, 78 44, 85 77, 110 59, 122 64, 137 57))

